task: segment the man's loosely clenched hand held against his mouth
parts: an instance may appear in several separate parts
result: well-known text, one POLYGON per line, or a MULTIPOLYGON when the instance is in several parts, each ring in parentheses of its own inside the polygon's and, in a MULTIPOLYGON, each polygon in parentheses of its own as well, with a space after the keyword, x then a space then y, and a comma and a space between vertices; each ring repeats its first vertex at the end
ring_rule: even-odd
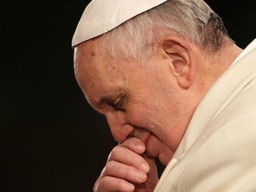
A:
POLYGON ((93 191, 153 191, 158 174, 153 157, 142 155, 145 150, 145 144, 138 138, 129 138, 116 146, 93 191))

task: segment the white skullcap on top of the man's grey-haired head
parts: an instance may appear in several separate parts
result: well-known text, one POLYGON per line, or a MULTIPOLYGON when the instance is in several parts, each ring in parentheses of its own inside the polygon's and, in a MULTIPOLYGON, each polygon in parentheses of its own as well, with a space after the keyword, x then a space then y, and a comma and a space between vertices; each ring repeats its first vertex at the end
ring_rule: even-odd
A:
POLYGON ((85 8, 72 38, 72 47, 102 35, 167 0, 93 0, 85 8))

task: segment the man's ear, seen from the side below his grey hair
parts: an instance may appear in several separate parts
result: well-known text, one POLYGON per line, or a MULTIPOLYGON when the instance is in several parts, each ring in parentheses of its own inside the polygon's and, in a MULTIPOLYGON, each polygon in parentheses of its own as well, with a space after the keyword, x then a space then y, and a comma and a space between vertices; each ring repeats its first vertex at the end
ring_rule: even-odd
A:
POLYGON ((182 88, 189 88, 195 79, 195 66, 190 58, 190 49, 181 39, 163 41, 163 50, 168 55, 169 66, 182 88))

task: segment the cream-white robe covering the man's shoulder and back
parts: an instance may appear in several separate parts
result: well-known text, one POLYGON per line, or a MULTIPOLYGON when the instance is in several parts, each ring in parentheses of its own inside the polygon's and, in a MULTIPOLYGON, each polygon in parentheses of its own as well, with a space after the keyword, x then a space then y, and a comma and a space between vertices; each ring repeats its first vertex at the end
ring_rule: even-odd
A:
POLYGON ((202 99, 154 191, 256 191, 256 41, 202 99))

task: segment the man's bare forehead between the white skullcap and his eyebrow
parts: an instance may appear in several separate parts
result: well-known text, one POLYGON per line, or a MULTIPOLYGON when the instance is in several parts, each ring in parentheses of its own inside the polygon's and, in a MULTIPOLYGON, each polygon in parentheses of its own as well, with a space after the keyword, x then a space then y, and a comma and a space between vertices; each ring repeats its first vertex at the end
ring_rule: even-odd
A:
POLYGON ((117 62, 101 49, 99 39, 75 48, 75 78, 87 100, 121 90, 127 81, 127 65, 117 62))

